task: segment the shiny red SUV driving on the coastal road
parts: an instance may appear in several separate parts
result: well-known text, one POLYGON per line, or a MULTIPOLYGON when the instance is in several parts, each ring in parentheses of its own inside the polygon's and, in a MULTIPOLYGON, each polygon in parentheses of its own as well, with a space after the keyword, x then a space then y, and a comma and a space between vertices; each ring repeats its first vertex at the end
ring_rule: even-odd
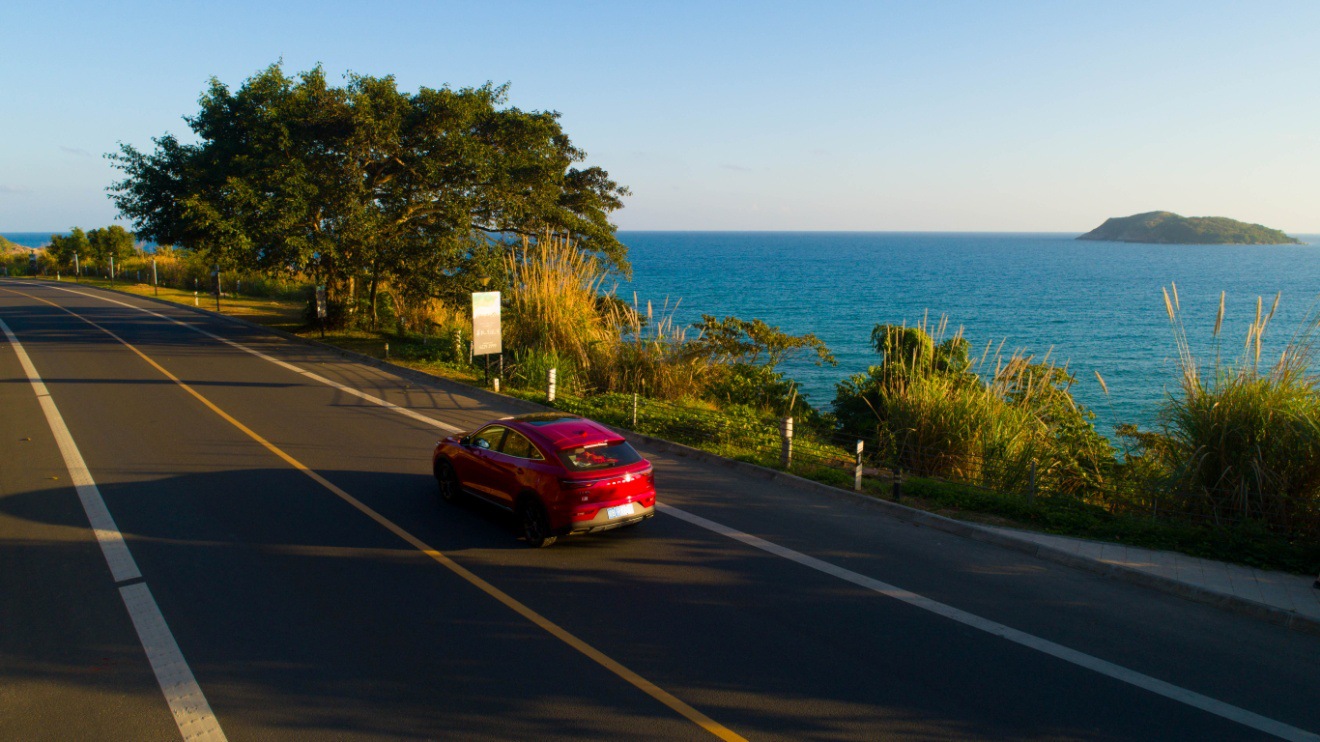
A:
POLYGON ((599 422, 561 412, 506 417, 436 444, 440 496, 475 495, 517 515, 532 547, 655 515, 651 462, 599 422))

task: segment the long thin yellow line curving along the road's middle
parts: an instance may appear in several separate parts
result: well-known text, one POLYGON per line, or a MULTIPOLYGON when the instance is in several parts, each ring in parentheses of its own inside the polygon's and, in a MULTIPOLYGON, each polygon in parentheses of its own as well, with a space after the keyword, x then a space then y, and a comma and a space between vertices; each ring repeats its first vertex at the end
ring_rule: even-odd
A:
POLYGON ((235 428, 238 428, 239 430, 242 430, 246 436, 248 436, 253 441, 261 444, 261 446, 264 446, 267 450, 269 450, 271 453, 273 453, 279 458, 284 459, 285 463, 288 463, 289 466, 292 466, 292 467, 297 469, 298 471, 306 474, 315 483, 321 485, 326 490, 330 490, 339 499, 342 499, 343 502, 346 502, 350 506, 355 507, 359 512, 362 512, 367 518, 375 520, 376 523, 379 523, 380 525, 383 525, 391 533, 393 533, 393 535, 399 536, 400 539, 403 539, 404 541, 408 541, 409 544, 412 544, 412 547, 416 548, 418 552, 429 556, 430 558, 433 558, 438 564, 444 565, 446 569, 449 569, 454 574, 462 577, 469 584, 471 584, 475 588, 478 588, 480 591, 486 593, 487 595, 490 595, 490 597, 495 598, 496 601, 499 601, 499 602, 504 603, 506 606, 508 606, 513 613, 521 615, 527 621, 531 621, 532 623, 535 623, 540 628, 545 630, 548 634, 550 634, 556 639, 564 642, 569 647, 573 647, 578 652, 586 655, 587 658, 590 658, 593 661, 595 661, 601 667, 603 667, 603 668, 609 669, 610 672, 612 672, 614 675, 622 677, 623 680, 626 680, 627 683, 630 683, 631 685, 634 685, 635 688, 638 688, 639 691, 642 691, 647 696, 651 696, 652 698, 660 701, 665 706, 669 706, 672 710, 675 710, 676 713, 678 713, 680 716, 682 716, 688 721, 696 724, 697 726, 705 729, 710 734, 718 737, 719 739, 743 741, 743 742, 746 742, 746 739, 743 737, 735 734, 729 727, 721 725, 719 722, 711 720, 706 714, 704 714, 704 713, 698 712, 697 709, 689 706, 688 704, 682 702, 675 694, 669 693, 664 688, 660 688, 655 683, 651 683, 645 677, 642 677, 636 672, 632 672, 631 669, 628 669, 627 667, 624 667, 619 661, 614 660, 612 658, 610 658, 605 652, 597 650, 595 647, 587 644, 582 639, 578 639, 576 635, 573 635, 572 632, 569 632, 564 627, 558 626, 553 621, 545 618, 544 615, 541 615, 541 614, 536 613, 535 610, 529 609, 528 606, 523 605, 521 602, 517 601, 517 598, 510 595, 508 593, 506 593, 506 591, 500 590, 499 588, 491 585, 490 582, 482 580, 480 577, 478 577, 477 574, 474 574, 473 572, 470 572, 463 565, 461 565, 461 564, 455 562, 454 560, 449 558, 447 556, 445 556, 440 551, 437 551, 437 549, 432 548, 430 545, 428 545, 425 541, 422 541, 417 536, 413 536, 412 533, 409 533, 408 531, 405 531, 403 527, 400 527, 395 522, 389 520, 384 515, 380 515, 379 512, 376 512, 375 510, 372 510, 370 506, 367 506, 366 503, 363 503, 358 498, 355 498, 355 496, 350 495, 348 492, 343 491, 342 489, 339 489, 338 486, 335 486, 333 482, 330 482, 329 479, 326 479, 321 474, 317 474, 315 471, 313 471, 308 465, 305 465, 301 461, 293 458, 292 455, 289 455, 288 453, 285 453, 282 449, 280 449, 279 446, 276 446, 271 441, 263 438, 257 432, 252 430, 251 428, 248 428, 243 422, 238 421, 232 415, 230 415, 228 412, 224 412, 223 409, 220 409, 215 403, 213 403, 211 400, 206 399, 205 396, 202 396, 201 392, 198 392, 193 387, 190 387, 186 383, 183 383, 182 380, 180 380, 178 376, 170 374, 168 370, 165 370, 164 366, 161 366, 160 363, 156 363, 156 360, 153 360, 145 353, 137 350, 137 347, 135 347, 132 343, 129 343, 124 338, 116 335, 115 333, 112 333, 111 330, 103 327, 102 325, 98 325, 96 322, 94 322, 94 321, 83 317, 82 314, 78 314, 77 312, 73 312, 73 310, 66 309, 63 306, 59 306, 58 304, 55 304, 53 301, 48 301, 48 300, 41 298, 38 296, 32 296, 32 294, 17 292, 17 290, 12 290, 12 289, 0 289, 0 290, 5 290, 5 293, 15 293, 15 294, 18 294, 18 296, 22 296, 22 297, 26 297, 26 298, 32 298, 32 300, 40 301, 42 304, 49 304, 50 306, 54 306, 55 309, 59 309, 61 312, 71 314, 73 317, 77 317, 78 320, 82 320, 83 322, 91 325, 92 327, 96 327, 98 330, 100 330, 100 331, 106 333, 107 335, 115 338, 124 347, 127 347, 128 350, 133 351, 135 354, 137 354, 139 358, 141 358, 148 364, 150 364, 153 368, 156 368, 157 371, 160 371, 166 379, 169 379, 170 382, 174 382, 183 391, 186 391, 187 393, 190 393, 194 397, 197 397, 198 401, 201 401, 203 405, 206 405, 215 415, 220 416, 220 419, 223 419, 226 422, 234 425, 235 428))

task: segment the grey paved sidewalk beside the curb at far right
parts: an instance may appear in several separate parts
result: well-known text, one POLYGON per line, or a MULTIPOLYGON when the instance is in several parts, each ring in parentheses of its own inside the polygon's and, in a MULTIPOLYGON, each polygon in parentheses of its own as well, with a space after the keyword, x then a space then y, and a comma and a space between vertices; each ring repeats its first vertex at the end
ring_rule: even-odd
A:
POLYGON ((1162 577, 1216 593, 1226 598, 1249 601, 1269 609, 1296 614, 1299 618, 1320 624, 1320 589, 1312 586, 1315 577, 1290 574, 1287 572, 1266 572, 1251 566, 1224 564, 1199 558, 1177 552, 1158 552, 1123 544, 1107 544, 1051 536, 982 525, 987 531, 1002 533, 1010 539, 1032 541, 1081 558, 1109 564, 1125 570, 1162 577))

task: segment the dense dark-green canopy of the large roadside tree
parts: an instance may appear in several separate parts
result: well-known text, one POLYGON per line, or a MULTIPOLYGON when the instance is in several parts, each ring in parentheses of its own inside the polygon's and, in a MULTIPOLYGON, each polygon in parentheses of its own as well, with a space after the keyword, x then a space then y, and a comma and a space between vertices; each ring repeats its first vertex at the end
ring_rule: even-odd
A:
MULTIPOLYGON (((392 77, 272 65, 230 90, 216 79, 172 135, 112 154, 120 213, 145 239, 223 265, 305 273, 331 294, 380 281, 437 296, 474 253, 511 238, 566 235, 627 273, 610 213, 627 189, 546 111, 507 107, 507 86, 404 92, 392 77)), ((346 298, 351 298, 346 297, 346 298)))

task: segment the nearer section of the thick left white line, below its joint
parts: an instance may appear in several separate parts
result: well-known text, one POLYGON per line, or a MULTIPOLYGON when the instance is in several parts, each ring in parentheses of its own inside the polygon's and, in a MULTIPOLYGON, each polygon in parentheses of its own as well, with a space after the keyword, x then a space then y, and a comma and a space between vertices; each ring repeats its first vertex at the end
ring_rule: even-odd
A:
POLYGON ((183 652, 174 642, 174 634, 165 623, 147 584, 125 585, 119 589, 119 594, 124 598, 137 639, 147 651, 147 661, 152 663, 156 683, 165 693, 165 701, 183 739, 223 742, 224 730, 211 712, 211 705, 206 702, 202 687, 193 677, 193 671, 183 660, 183 652))

